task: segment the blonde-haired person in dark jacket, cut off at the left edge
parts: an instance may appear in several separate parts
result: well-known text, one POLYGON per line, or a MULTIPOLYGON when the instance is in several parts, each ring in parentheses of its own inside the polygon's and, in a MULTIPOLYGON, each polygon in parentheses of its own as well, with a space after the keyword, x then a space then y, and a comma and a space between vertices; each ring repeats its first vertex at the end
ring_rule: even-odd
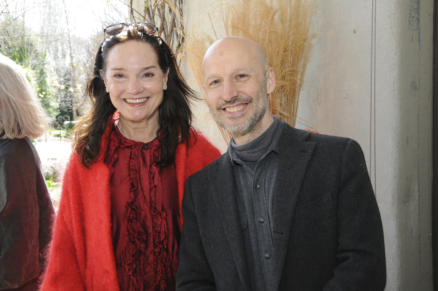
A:
POLYGON ((55 210, 30 138, 46 129, 25 72, 0 55, 0 290, 38 288, 55 210))

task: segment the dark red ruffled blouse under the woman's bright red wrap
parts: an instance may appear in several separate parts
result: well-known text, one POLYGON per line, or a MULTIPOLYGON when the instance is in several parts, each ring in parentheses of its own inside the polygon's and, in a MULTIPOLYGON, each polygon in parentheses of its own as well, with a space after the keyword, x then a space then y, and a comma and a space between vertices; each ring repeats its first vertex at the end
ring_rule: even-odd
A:
POLYGON ((179 204, 175 165, 156 166, 160 145, 120 134, 118 118, 109 137, 111 223, 121 291, 175 290, 179 204))

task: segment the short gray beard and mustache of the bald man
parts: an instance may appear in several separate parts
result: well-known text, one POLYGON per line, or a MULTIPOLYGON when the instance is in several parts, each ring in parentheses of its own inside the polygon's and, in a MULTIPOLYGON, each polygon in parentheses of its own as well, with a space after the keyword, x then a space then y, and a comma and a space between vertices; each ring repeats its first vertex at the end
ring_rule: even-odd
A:
MULTIPOLYGON (((257 124, 258 122, 261 120, 261 117, 263 117, 263 115, 265 115, 265 111, 266 108, 268 106, 268 97, 266 95, 266 79, 263 82, 263 84, 261 85, 260 90, 257 92, 257 96, 256 99, 252 99, 251 97, 240 97, 237 96, 236 98, 234 98, 233 100, 231 100, 230 102, 223 102, 221 103, 217 108, 212 108, 212 106, 208 106, 208 109, 210 110, 210 114, 212 114, 213 119, 216 121, 217 124, 219 124, 219 126, 221 126, 222 128, 224 128, 226 131, 229 131, 231 134, 233 135, 244 135, 248 132, 250 132, 257 124), (254 106, 254 110, 251 113, 250 117, 247 119, 246 122, 244 123, 237 123, 237 124, 226 124, 226 122, 223 120, 221 114, 219 113, 219 110, 222 110, 221 108, 223 106, 232 106, 233 104, 236 103, 257 103, 259 102, 259 100, 263 98, 263 104, 261 107, 259 106, 254 106)), ((238 119, 238 117, 231 117, 231 120, 233 119, 238 119)))

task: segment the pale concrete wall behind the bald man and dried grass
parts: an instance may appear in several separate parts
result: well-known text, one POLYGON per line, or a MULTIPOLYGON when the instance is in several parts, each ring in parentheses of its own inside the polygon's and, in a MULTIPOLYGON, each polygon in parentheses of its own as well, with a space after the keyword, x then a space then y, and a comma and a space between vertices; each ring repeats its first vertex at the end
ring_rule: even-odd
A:
MULTIPOLYGON (((185 1, 187 28, 214 35, 207 15, 213 2, 185 1)), ((433 7, 433 0, 317 0, 318 36, 300 96, 299 117, 357 140, 364 151, 385 232, 386 290, 432 290, 433 7)), ((221 22, 212 21, 224 36, 221 22)), ((225 151, 207 106, 193 110, 196 126, 225 151)), ((298 119, 297 128, 305 127, 298 119)))

